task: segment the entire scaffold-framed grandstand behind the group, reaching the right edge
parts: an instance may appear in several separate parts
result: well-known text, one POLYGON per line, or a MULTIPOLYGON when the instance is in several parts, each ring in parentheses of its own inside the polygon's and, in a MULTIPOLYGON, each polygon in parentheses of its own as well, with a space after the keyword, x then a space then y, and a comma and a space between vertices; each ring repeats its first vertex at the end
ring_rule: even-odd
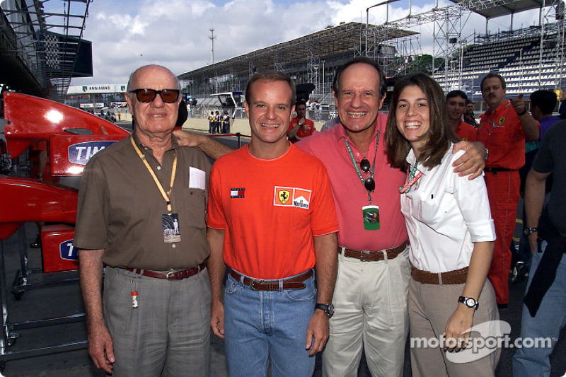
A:
MULTIPOLYGON (((391 86, 398 76, 416 69, 422 55, 419 33, 425 23, 434 23, 432 61, 429 72, 444 91, 462 89, 470 98, 482 100, 480 80, 489 71, 507 79, 508 95, 529 93, 538 88, 557 91, 563 98, 562 71, 565 68, 564 5, 559 0, 453 0, 454 5, 409 14, 383 25, 345 23, 334 28, 265 47, 204 66, 179 76, 183 93, 210 98, 213 93, 244 91, 255 71, 277 69, 296 83, 313 83, 311 100, 333 106, 331 83, 335 70, 352 57, 366 55, 384 68, 391 86), (495 17, 538 10, 541 23, 529 28, 489 33, 487 22, 495 17), (463 24, 470 13, 485 17, 485 33, 463 36, 463 24), (464 21, 462 21, 464 20, 464 21), (413 30, 412 30, 413 29, 413 30), (436 48, 436 50, 434 50, 436 48), (435 64, 443 64, 437 66, 435 64)), ((380 3, 386 4, 386 2, 380 3)), ((387 4, 388 5, 388 4, 387 4)), ((369 8, 368 8, 369 10, 369 8)), ((391 89, 391 88, 390 88, 391 89)))

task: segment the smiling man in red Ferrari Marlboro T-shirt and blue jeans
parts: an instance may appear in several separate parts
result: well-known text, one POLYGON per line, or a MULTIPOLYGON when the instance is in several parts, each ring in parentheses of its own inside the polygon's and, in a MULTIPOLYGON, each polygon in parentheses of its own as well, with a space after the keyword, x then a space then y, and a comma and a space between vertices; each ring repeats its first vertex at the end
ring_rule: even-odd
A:
POLYGON ((294 98, 281 72, 252 76, 250 144, 211 173, 211 325, 232 377, 267 376, 268 359, 273 376, 311 377, 330 334, 338 221, 323 163, 287 141, 294 98))

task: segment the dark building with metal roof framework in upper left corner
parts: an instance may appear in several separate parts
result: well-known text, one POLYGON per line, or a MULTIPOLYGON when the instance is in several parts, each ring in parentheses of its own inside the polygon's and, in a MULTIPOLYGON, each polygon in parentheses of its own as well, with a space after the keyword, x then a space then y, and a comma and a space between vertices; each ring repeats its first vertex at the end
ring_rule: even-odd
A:
POLYGON ((0 10, 0 62, 6 70, 0 81, 63 102, 91 1, 6 1, 0 10), (30 77, 24 82, 11 76, 30 77))

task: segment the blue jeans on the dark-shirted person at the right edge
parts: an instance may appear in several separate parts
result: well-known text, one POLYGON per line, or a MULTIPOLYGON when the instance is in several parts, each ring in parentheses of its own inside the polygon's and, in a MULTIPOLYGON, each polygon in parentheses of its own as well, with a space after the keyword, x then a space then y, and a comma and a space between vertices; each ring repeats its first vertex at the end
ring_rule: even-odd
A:
MULTIPOLYGON (((533 280, 538 264, 541 262, 543 253, 534 253, 531 262, 531 272, 529 272, 529 284, 527 291, 533 280)), ((529 309, 523 305, 523 318, 521 320, 521 338, 525 342, 526 338, 549 338, 548 344, 538 347, 523 347, 517 349, 513 357, 513 376, 514 377, 538 377, 550 376, 550 354, 560 335, 560 329, 566 325, 566 254, 562 255, 556 279, 546 292, 541 307, 538 308, 536 316, 533 318, 529 309)))

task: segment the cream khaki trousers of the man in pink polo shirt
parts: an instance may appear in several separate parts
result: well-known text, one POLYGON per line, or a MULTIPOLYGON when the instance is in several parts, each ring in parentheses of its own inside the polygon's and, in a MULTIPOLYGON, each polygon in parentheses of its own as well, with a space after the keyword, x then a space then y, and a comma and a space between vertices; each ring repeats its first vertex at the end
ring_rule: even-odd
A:
POLYGON ((323 376, 357 376, 362 347, 371 375, 403 375, 408 335, 408 248, 391 260, 362 262, 338 255, 338 276, 323 352, 323 376))

